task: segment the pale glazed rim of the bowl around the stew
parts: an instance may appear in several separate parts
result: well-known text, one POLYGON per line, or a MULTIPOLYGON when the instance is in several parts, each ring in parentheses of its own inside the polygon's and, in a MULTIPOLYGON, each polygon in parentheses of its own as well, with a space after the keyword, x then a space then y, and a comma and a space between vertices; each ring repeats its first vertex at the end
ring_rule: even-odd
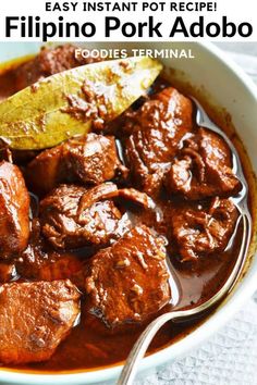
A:
MULTIPOLYGON (((146 42, 147 44, 147 42, 146 42)), ((169 42, 167 42, 169 44, 169 42)), ((216 47, 212 42, 194 42, 201 47, 201 49, 208 52, 212 58, 220 61, 223 65, 229 67, 229 70, 235 75, 238 82, 241 82, 250 96, 257 101, 257 86, 250 79, 250 77, 245 74, 245 72, 232 60, 230 59, 220 48, 216 47), (222 54, 221 54, 222 52, 222 54)), ((185 353, 188 353, 192 349, 203 343, 205 339, 209 338, 212 334, 217 332, 221 326, 223 326, 236 311, 241 309, 246 299, 248 299, 254 291, 257 289, 257 270, 252 276, 248 277, 246 285, 236 289, 228 298, 230 300, 222 303, 223 311, 216 311, 208 318, 203 324, 200 324, 196 330, 189 333, 186 337, 175 341, 174 344, 158 350, 157 352, 145 357, 142 360, 138 373, 144 372, 148 369, 156 368, 160 364, 164 364, 172 358, 172 352, 175 351, 175 359, 181 358, 185 353), (231 300, 231 297, 233 297, 231 300), (224 311, 227 316, 224 318, 224 311), (211 326, 211 327, 210 327, 211 326)), ((243 280, 244 281, 244 280, 243 280)), ((220 307, 218 308, 220 309, 220 307)), ((35 384, 62 384, 62 385, 85 385, 101 383, 103 381, 113 380, 122 370, 122 363, 118 363, 112 367, 105 369, 96 368, 89 371, 75 371, 68 373, 25 373, 19 372, 19 370, 12 369, 0 369, 0 383, 9 384, 20 384, 20 385, 35 385, 35 384)))

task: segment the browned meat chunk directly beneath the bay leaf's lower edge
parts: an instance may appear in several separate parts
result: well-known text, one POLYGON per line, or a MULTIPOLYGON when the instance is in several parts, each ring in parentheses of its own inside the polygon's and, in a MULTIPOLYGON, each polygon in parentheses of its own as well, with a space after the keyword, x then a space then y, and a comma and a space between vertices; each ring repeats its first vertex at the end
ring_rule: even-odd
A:
POLYGON ((119 160, 113 136, 89 133, 45 150, 26 169, 26 179, 34 191, 44 195, 60 183, 79 182, 98 185, 126 167, 119 160))

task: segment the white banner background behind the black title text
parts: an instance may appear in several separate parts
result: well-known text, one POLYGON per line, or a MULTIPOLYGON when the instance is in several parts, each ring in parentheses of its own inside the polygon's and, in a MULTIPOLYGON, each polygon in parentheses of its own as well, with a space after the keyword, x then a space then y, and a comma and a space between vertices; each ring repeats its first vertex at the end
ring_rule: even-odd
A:
MULTIPOLYGON (((113 0, 109 0, 112 3, 114 2, 113 0)), ((185 0, 189 1, 189 0, 185 0)), ((59 1, 60 4, 62 4, 64 1, 59 1)), ((69 1, 68 1, 69 2, 69 1)), ((40 41, 40 38, 21 38, 20 37, 20 32, 13 30, 11 38, 5 37, 5 17, 7 16, 28 16, 28 15, 38 15, 40 16, 42 22, 58 22, 58 17, 61 15, 64 17, 64 20, 69 23, 71 22, 77 22, 79 24, 86 23, 86 22, 91 22, 96 24, 97 27, 97 33, 94 37, 87 38, 87 40, 91 41, 101 41, 101 40, 112 40, 112 41, 136 41, 136 40, 162 40, 162 41, 168 41, 171 40, 172 38, 169 37, 169 32, 171 30, 172 24, 175 20, 176 16, 183 16, 184 22, 186 26, 191 25, 194 22, 198 21, 198 17, 200 15, 205 16, 205 23, 210 23, 210 22, 221 22, 221 17, 224 15, 228 17, 229 21, 234 22, 235 24, 242 23, 242 22, 248 22, 252 23, 254 27, 253 35, 248 38, 241 38, 238 35, 236 35, 233 38, 222 38, 222 37, 217 37, 217 38, 210 38, 206 37, 203 39, 206 40, 215 40, 215 41, 257 41, 257 17, 256 17, 256 0, 244 0, 244 1, 237 1, 237 0, 217 0, 217 11, 216 12, 170 12, 169 11, 169 3, 170 1, 164 1, 166 3, 166 11, 142 11, 142 4, 143 0, 138 0, 138 7, 136 12, 83 12, 82 9, 82 0, 75 1, 78 3, 77 9, 75 12, 69 11, 69 12, 46 12, 46 1, 45 0, 7 0, 3 1, 1 0, 1 5, 0 5, 0 41, 40 41), (105 16, 117 16, 121 20, 121 23, 126 23, 126 22, 133 22, 137 24, 138 22, 147 22, 148 16, 152 15, 155 17, 156 22, 162 22, 161 26, 161 33, 162 37, 157 37, 155 36, 154 38, 149 38, 147 29, 145 30, 145 34, 142 38, 138 38, 137 36, 134 36, 132 38, 125 38, 121 29, 115 30, 112 33, 111 37, 109 39, 106 38, 105 36, 105 16)), ((89 0, 89 2, 94 2, 89 0)), ((99 1, 96 1, 99 2, 99 1)), ((121 3, 121 1, 118 1, 121 3)), ((127 1, 125 1, 127 2, 127 1)), ((148 0, 146 1, 147 3, 151 2, 159 2, 157 1, 151 1, 148 0)), ((179 2, 175 0, 175 2, 179 2)), ((192 1, 195 3, 196 1, 192 1)), ((203 1, 204 2, 204 1, 203 1)), ((51 1, 52 4, 54 4, 54 1, 51 1)), ((103 1, 105 3, 105 1, 103 1)), ((200 38, 201 39, 201 38, 200 38)), ((66 38, 60 38, 59 36, 53 37, 52 39, 49 40, 69 40, 66 38)), ((72 41, 74 40, 85 40, 85 37, 81 36, 81 38, 74 39, 74 37, 71 37, 72 41)), ((176 35, 173 40, 175 41, 183 41, 183 40, 194 40, 193 38, 184 38, 182 34, 176 35)), ((197 38, 199 40, 199 38, 197 38)))

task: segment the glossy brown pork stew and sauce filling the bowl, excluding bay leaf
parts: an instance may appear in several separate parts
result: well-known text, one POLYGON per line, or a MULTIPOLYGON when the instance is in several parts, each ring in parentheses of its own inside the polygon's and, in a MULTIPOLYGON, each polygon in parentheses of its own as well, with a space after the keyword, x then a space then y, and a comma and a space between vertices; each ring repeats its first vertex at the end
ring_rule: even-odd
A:
MULTIPOLYGON (((37 82, 94 62, 72 45, 44 48, 0 73, 0 99, 25 87, 36 95, 37 82)), ((84 124, 88 100, 61 113, 84 124)), ((159 76, 122 114, 102 116, 56 147, 1 142, 0 365, 123 360, 147 323, 212 296, 236 260, 241 184, 193 101, 159 76)), ((196 322, 168 324, 151 349, 196 322)))

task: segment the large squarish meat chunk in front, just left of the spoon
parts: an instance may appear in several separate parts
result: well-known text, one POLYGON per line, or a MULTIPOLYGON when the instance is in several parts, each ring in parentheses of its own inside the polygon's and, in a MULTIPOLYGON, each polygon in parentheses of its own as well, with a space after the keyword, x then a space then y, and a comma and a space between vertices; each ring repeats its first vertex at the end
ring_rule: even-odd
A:
POLYGON ((110 327, 143 322, 169 302, 168 278, 163 237, 135 227, 90 260, 88 310, 110 327))

